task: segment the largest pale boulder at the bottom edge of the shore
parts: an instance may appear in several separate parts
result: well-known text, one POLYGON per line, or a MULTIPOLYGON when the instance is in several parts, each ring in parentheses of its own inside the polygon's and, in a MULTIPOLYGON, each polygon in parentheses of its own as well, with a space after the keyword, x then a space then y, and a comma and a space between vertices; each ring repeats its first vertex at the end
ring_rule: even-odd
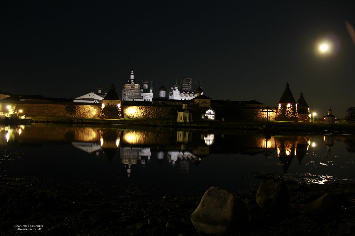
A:
POLYGON ((213 186, 204 193, 200 204, 191 214, 191 221, 198 232, 222 235, 236 231, 248 217, 241 198, 213 186))

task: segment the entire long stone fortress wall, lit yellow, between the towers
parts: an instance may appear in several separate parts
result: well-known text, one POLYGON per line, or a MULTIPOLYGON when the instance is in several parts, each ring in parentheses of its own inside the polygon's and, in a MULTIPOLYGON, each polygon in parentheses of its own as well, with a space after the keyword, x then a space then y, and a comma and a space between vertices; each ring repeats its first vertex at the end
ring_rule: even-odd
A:
MULTIPOLYGON (((8 101, 0 100, 0 111, 6 112, 6 106, 12 108, 16 104, 17 110, 22 109, 26 116, 53 116, 53 117, 77 117, 98 118, 101 104, 98 103, 71 103, 71 102, 44 102, 44 101, 8 101)), ((180 105, 122 105, 124 118, 165 118, 176 119, 180 105)), ((192 110, 192 120, 200 120, 201 115, 209 108, 188 107, 192 110)), ((266 120, 266 114, 257 107, 233 107, 213 108, 216 120, 266 120)), ((275 120, 275 113, 269 113, 269 120, 275 120)))

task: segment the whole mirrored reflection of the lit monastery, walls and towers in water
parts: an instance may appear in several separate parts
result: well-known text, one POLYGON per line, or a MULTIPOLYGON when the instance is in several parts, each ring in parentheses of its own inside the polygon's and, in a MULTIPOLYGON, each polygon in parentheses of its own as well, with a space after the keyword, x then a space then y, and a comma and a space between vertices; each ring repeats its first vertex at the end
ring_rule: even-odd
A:
MULTIPOLYGON (((336 141, 344 142, 348 152, 355 152, 355 138, 324 135, 321 149, 328 154, 336 141)), ((94 158, 125 169, 127 176, 137 168, 161 165, 178 173, 189 173, 203 165, 211 154, 275 156, 288 172, 291 162, 301 165, 315 143, 309 136, 215 135, 191 131, 147 132, 114 128, 32 126, 0 127, 0 146, 72 144, 94 158)))

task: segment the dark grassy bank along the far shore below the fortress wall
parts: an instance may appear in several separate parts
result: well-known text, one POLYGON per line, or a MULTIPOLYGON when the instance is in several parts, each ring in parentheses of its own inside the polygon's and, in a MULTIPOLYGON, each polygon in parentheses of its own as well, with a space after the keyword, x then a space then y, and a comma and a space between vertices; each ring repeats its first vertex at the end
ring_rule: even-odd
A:
POLYGON ((145 127, 163 127, 169 129, 209 129, 228 131, 252 131, 270 134, 278 133, 330 133, 355 134, 355 124, 326 125, 324 122, 286 122, 286 121, 220 121, 199 120, 193 123, 180 123, 165 119, 84 119, 75 117, 31 117, 34 123, 67 123, 82 125, 127 125, 145 127))

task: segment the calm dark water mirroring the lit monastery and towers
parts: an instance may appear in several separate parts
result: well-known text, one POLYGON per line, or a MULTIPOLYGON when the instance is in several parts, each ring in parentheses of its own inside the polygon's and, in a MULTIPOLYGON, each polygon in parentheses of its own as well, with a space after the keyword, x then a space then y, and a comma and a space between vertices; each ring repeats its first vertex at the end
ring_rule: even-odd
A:
POLYGON ((115 194, 133 187, 172 195, 213 185, 246 190, 255 188, 261 182, 255 175, 264 172, 319 184, 355 179, 355 136, 349 135, 33 124, 0 126, 0 155, 1 177, 91 182, 115 194))

